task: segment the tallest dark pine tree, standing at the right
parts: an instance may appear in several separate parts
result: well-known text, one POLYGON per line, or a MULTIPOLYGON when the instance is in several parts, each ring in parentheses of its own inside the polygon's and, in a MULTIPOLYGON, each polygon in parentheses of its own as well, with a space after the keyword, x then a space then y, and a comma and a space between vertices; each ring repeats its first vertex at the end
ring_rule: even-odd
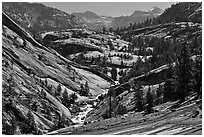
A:
POLYGON ((177 56, 177 93, 182 102, 191 90, 191 60, 187 43, 180 45, 177 56))

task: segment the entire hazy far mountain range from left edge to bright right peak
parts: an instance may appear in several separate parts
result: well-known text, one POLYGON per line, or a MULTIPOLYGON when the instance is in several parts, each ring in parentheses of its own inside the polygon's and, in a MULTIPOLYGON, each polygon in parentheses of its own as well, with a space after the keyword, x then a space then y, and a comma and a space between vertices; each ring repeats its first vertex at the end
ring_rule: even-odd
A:
POLYGON ((130 23, 141 23, 147 18, 151 19, 163 13, 160 8, 153 7, 149 11, 136 10, 129 16, 120 17, 97 15, 91 11, 75 12, 70 15, 38 3, 3 2, 2 5, 3 12, 31 33, 75 27, 90 29, 101 29, 104 26, 106 28, 128 27, 130 23))

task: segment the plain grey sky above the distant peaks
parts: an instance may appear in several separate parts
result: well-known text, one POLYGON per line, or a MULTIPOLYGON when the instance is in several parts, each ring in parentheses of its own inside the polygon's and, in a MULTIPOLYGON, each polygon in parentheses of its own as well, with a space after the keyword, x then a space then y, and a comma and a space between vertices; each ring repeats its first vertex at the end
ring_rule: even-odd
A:
POLYGON ((170 7, 175 2, 41 2, 42 4, 63 10, 69 14, 73 12, 92 11, 97 15, 126 16, 135 10, 148 11, 153 6, 161 9, 170 7))

